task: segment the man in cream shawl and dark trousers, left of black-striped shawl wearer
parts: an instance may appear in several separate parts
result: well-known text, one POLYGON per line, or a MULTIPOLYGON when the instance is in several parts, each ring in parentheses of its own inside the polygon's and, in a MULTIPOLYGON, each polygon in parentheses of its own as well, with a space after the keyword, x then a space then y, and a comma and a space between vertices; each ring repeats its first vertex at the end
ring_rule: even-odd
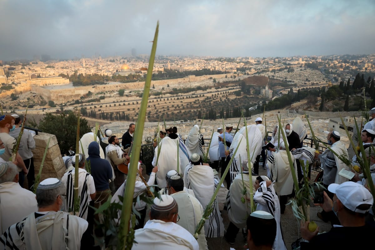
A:
MULTIPOLYGON (((252 165, 252 163, 250 164, 252 165)), ((250 202, 246 198, 249 199, 251 193, 255 193, 254 187, 250 187, 249 178, 252 175, 251 179, 252 183, 254 183, 257 176, 249 172, 246 159, 242 162, 242 171, 234 178, 226 197, 226 208, 230 223, 224 237, 229 244, 234 244, 240 228, 246 227, 246 218, 251 213, 250 202), (246 195, 243 194, 244 186, 246 195)))

